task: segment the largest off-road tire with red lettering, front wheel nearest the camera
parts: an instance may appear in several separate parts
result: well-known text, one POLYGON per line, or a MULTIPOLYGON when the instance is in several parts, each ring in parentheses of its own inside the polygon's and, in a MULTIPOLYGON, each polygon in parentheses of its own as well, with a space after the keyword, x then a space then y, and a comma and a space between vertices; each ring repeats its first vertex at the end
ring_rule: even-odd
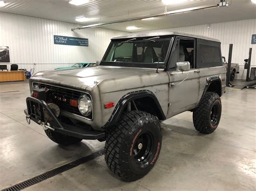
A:
POLYGON ((162 142, 157 117, 143 111, 125 112, 117 124, 106 133, 104 150, 107 167, 123 181, 131 182, 142 178, 156 164, 162 142), (144 141, 144 137, 150 141, 144 141), (139 149, 141 140, 144 147, 139 149), (146 153, 149 145, 149 154, 145 154, 145 160, 139 164, 140 154, 142 155, 144 150, 146 153), (135 151, 138 151, 137 154, 134 154, 135 151))

